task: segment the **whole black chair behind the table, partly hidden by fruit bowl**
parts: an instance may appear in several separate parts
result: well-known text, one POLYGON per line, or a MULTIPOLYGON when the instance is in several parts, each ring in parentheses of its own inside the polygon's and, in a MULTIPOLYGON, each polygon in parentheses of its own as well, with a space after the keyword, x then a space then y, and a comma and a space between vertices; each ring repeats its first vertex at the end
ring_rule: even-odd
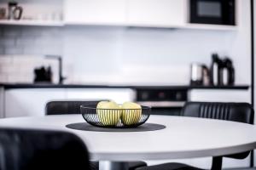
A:
MULTIPOLYGON (((108 99, 104 99, 108 100, 108 99)), ((45 107, 46 115, 63 115, 63 114, 80 114, 80 105, 97 105, 100 100, 95 101, 49 101, 45 107)), ((101 100, 102 101, 102 100, 101 100)), ((147 163, 144 161, 130 161, 129 170, 137 167, 145 167, 147 163)), ((99 162, 90 161, 90 169, 98 170, 99 162)))

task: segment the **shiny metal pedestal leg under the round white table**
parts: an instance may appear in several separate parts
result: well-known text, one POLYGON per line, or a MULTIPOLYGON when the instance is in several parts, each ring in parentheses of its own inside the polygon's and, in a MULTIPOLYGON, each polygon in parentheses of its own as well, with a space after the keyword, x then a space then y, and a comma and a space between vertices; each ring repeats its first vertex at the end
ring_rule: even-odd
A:
POLYGON ((128 170, 128 162, 125 161, 100 161, 99 170, 128 170))

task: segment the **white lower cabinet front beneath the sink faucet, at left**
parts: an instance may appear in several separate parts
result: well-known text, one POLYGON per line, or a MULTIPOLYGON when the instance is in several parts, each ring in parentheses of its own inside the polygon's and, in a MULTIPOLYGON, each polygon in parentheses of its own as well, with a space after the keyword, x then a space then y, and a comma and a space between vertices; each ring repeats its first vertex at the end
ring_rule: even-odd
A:
POLYGON ((65 99, 63 88, 26 88, 5 91, 5 117, 44 116, 48 101, 65 99))

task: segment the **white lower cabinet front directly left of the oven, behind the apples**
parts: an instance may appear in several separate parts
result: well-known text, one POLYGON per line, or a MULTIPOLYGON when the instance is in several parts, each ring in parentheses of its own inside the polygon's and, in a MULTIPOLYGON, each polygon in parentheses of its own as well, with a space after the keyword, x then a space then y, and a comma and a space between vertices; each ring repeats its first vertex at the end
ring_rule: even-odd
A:
POLYGON ((119 104, 132 101, 135 92, 130 88, 67 88, 67 99, 111 99, 119 104))

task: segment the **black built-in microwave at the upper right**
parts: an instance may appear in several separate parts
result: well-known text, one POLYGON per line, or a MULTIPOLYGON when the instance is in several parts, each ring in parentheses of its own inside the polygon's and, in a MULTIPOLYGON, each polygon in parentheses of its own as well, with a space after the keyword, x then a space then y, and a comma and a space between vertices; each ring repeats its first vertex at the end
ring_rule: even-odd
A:
POLYGON ((190 0, 190 23, 236 25, 235 0, 190 0))

